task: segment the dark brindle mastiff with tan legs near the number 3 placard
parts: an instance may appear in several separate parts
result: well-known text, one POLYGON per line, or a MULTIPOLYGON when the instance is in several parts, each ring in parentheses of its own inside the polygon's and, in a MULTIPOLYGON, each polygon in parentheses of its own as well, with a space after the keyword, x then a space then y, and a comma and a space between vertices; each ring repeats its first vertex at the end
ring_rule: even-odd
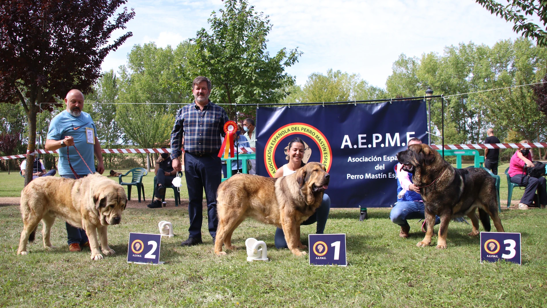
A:
MULTIPOLYGON (((490 231, 490 216, 498 232, 504 232, 498 216, 496 180, 481 168, 456 169, 427 144, 412 144, 408 150, 397 153, 403 170, 414 173, 412 182, 420 188, 426 223, 435 224, 435 215, 441 219, 437 249, 446 248, 450 219, 467 215, 473 222, 469 236, 479 235, 479 217, 482 226, 490 231)), ((427 228, 426 237, 416 246, 431 243, 433 228, 427 228)))

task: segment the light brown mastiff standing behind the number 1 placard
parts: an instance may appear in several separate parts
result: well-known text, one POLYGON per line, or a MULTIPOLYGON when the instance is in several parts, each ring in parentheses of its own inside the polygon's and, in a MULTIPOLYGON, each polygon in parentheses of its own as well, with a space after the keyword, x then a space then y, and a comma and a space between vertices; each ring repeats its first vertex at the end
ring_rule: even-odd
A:
POLYGON ((292 175, 267 178, 237 174, 218 187, 217 240, 214 253, 226 254, 232 233, 247 217, 283 229, 290 251, 295 255, 306 246, 300 241, 300 224, 321 205, 330 176, 319 162, 309 162, 292 175), (300 248, 300 249, 299 249, 300 248))

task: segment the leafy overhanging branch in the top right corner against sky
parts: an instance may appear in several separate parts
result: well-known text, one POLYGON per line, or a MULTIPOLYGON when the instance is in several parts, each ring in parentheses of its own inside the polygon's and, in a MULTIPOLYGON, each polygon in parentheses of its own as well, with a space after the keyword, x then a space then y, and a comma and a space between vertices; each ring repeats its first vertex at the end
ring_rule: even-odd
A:
POLYGON ((547 1, 507 0, 507 5, 494 0, 475 0, 475 2, 489 10, 490 13, 513 22, 513 31, 516 33, 522 33, 523 37, 532 38, 540 46, 547 46, 547 32, 544 31, 547 25, 547 1), (531 21, 534 19, 539 19, 543 28, 531 21))

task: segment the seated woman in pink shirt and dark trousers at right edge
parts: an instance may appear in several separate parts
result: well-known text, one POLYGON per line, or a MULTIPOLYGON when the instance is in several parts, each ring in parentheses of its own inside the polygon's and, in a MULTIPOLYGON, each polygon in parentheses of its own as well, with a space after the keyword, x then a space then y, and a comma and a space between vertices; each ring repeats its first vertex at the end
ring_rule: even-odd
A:
MULTIPOLYGON (((519 143, 530 143, 528 140, 522 140, 519 143)), ((536 190, 539 195, 539 204, 541 207, 545 207, 547 204, 547 181, 544 177, 533 178, 526 176, 526 167, 533 167, 532 154, 528 148, 520 148, 512 157, 509 162, 509 176, 511 177, 511 183, 516 183, 526 187, 524 195, 520 199, 519 208, 521 210, 527 210, 528 206, 534 201, 534 194, 536 190)))

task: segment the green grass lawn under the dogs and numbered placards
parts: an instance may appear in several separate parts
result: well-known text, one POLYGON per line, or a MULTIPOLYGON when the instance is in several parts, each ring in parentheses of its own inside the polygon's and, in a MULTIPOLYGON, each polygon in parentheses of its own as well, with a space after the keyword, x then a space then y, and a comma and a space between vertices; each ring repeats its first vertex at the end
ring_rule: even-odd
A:
MULTIPOLYGON (((0 174, 0 191, 20 191, 17 183, 6 181, 10 177, 0 174)), ((148 178, 147 189, 153 177, 148 178)), ((389 208, 371 208, 369 216, 359 222, 356 209, 331 209, 325 233, 347 234, 347 267, 310 266, 307 256, 273 248, 274 226, 252 219, 234 232, 238 249, 223 257, 214 255, 205 224, 203 245, 180 247, 188 235, 185 207, 127 208, 122 223, 109 227, 110 247, 117 254, 92 261, 87 249, 68 252, 60 220, 51 232, 58 248, 45 251, 39 227, 36 242, 27 246, 30 254, 16 255, 19 208, 0 206, 0 307, 547 306, 547 210, 501 213, 505 230, 522 234, 521 266, 481 264, 479 237, 468 237, 471 228, 464 223, 450 223, 448 249, 439 251, 416 247, 423 237, 416 220, 410 221, 411 237, 401 239, 399 226, 388 219, 389 208), (129 233, 158 233, 160 220, 172 222, 176 234, 162 239, 160 260, 166 263, 127 264, 129 233), (266 242, 269 262, 247 262, 248 237, 266 242)), ((306 243, 315 224, 301 231, 306 243)))

